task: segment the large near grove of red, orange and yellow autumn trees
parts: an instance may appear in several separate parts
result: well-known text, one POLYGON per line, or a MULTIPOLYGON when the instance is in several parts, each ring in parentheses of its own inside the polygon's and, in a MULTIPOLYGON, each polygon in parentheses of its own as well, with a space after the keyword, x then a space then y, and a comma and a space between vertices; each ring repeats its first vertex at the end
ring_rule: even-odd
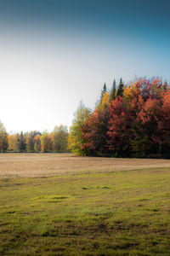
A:
POLYGON ((77 108, 69 149, 79 155, 170 158, 170 84, 138 79, 111 90, 94 110, 77 108))

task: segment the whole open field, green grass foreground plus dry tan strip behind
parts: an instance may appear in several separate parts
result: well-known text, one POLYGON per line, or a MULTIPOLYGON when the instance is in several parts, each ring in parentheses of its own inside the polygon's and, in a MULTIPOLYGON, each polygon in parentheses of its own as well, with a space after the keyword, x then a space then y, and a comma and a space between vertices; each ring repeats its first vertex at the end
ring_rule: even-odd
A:
POLYGON ((170 255, 170 160, 0 154, 0 255, 170 255))

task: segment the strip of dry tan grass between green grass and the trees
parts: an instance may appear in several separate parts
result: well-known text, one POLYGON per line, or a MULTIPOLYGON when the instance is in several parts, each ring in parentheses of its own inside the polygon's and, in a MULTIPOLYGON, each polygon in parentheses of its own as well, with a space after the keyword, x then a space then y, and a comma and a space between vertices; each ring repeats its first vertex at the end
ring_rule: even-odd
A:
POLYGON ((73 154, 0 154, 0 177, 52 177, 170 167, 170 160, 76 157, 73 154))

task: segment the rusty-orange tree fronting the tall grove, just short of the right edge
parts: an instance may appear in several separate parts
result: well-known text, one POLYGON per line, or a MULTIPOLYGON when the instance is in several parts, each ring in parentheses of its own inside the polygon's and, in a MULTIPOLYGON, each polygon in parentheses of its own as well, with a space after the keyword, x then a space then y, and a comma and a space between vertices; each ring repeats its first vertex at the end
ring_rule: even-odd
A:
POLYGON ((161 118, 161 103, 156 99, 149 98, 143 102, 139 113, 132 124, 133 140, 131 145, 134 156, 150 156, 161 153, 161 144, 157 137, 160 137, 158 130, 161 118), (153 129, 154 128, 154 129, 153 129))

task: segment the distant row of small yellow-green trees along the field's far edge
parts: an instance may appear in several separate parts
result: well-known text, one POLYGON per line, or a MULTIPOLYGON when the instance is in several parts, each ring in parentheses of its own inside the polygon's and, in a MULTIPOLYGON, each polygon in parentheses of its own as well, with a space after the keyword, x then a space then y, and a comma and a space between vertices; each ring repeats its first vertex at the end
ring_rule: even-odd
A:
POLYGON ((8 134, 0 122, 0 152, 67 152, 68 129, 65 125, 54 127, 54 131, 30 131, 8 134))

